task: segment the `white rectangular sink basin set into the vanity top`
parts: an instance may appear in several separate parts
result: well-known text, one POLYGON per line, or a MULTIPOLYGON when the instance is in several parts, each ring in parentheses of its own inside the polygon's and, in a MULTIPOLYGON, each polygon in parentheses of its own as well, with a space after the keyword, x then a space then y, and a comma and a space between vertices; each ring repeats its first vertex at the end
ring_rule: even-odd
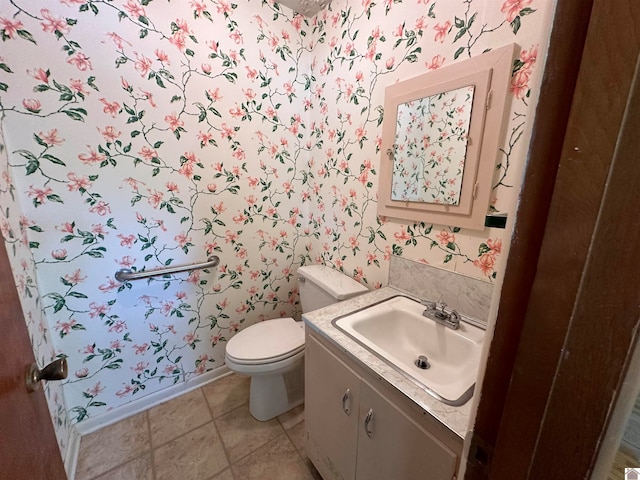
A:
POLYGON ((404 296, 333 320, 333 325, 448 405, 473 394, 484 330, 460 322, 453 330, 422 315, 424 305, 404 296), (419 356, 428 369, 419 368, 419 356))

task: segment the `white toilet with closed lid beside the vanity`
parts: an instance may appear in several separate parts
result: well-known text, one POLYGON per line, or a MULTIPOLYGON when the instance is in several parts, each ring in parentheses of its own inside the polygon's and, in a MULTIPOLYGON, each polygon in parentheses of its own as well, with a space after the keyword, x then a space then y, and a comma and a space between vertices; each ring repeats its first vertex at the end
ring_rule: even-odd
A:
MULTIPOLYGON (((369 291, 323 265, 300 267, 298 282, 303 312, 369 291)), ((304 323, 277 318, 245 328, 227 342, 225 363, 251 376, 249 411, 257 420, 297 407, 304 401, 304 323)))

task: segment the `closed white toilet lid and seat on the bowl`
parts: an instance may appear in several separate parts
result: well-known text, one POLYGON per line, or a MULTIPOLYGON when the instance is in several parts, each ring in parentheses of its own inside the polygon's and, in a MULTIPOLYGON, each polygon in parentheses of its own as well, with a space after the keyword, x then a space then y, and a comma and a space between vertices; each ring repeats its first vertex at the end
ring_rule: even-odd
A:
POLYGON ((225 356, 240 365, 279 362, 304 350, 304 323, 293 318, 259 322, 227 342, 225 356))

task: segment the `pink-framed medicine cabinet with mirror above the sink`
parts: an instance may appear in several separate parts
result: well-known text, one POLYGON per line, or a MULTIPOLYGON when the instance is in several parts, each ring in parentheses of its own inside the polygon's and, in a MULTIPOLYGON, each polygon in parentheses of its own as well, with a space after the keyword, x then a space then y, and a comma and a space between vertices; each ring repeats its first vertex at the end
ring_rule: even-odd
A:
POLYGON ((385 90, 378 213, 484 229, 516 45, 385 90))

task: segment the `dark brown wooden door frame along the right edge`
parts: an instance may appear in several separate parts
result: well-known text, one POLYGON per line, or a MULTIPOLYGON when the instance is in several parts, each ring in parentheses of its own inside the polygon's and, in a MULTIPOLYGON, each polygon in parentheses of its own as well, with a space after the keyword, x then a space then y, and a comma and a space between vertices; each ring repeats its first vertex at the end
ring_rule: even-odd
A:
POLYGON ((640 13, 558 9, 466 479, 590 478, 640 328, 640 13))

